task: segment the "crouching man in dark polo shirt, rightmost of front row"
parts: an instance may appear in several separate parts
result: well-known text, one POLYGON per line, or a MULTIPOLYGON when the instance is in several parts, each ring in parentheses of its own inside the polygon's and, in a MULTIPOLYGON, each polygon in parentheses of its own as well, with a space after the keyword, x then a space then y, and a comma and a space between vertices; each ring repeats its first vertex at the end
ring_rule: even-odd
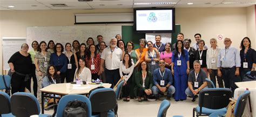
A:
POLYGON ((200 62, 195 60, 194 70, 188 74, 188 87, 185 91, 186 95, 190 95, 193 98, 193 102, 196 101, 199 91, 208 88, 205 78, 207 78, 207 75, 204 70, 201 70, 200 62))

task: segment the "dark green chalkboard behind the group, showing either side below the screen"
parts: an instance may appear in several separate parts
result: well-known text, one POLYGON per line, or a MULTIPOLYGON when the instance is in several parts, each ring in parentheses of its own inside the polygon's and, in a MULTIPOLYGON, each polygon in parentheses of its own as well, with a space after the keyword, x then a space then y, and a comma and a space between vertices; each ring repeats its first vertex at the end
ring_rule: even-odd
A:
MULTIPOLYGON (((177 35, 180 32, 180 25, 175 25, 175 32, 172 33, 172 44, 177 42, 177 35)), ((125 43, 132 41, 134 43, 134 49, 139 47, 139 39, 145 38, 145 33, 135 33, 133 26, 122 26, 122 39, 125 43)))

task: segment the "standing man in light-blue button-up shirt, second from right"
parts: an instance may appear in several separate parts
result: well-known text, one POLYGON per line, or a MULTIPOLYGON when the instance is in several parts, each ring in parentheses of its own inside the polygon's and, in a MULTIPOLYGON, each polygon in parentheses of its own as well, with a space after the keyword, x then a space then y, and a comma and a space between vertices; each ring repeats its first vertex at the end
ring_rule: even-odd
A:
POLYGON ((225 49, 221 49, 218 54, 218 75, 223 77, 225 88, 232 87, 235 75, 239 75, 239 67, 241 66, 239 51, 231 47, 231 43, 230 38, 225 38, 225 49))

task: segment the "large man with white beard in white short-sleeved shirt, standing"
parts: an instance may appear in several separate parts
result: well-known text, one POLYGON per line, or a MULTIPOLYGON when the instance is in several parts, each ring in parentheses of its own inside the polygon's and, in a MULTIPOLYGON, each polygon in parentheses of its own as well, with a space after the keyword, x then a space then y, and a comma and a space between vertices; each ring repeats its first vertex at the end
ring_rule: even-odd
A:
POLYGON ((122 59, 123 51, 117 47, 117 39, 111 38, 110 46, 106 47, 101 55, 99 73, 104 71, 104 63, 106 67, 106 82, 112 84, 111 87, 117 84, 120 79, 119 64, 122 59))

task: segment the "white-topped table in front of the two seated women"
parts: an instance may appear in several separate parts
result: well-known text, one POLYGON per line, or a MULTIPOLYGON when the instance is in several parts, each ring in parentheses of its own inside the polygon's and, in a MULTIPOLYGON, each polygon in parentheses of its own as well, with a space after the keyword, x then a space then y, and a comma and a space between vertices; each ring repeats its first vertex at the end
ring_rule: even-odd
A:
POLYGON ((63 84, 52 84, 47 87, 42 88, 40 91, 42 92, 42 114, 44 114, 44 97, 60 99, 64 95, 68 94, 89 94, 89 92, 96 87, 103 86, 105 88, 110 88, 111 84, 103 83, 102 85, 76 85, 70 83, 63 84), (53 96, 51 95, 53 94, 53 96), (56 97, 55 95, 60 95, 60 97, 56 97))

